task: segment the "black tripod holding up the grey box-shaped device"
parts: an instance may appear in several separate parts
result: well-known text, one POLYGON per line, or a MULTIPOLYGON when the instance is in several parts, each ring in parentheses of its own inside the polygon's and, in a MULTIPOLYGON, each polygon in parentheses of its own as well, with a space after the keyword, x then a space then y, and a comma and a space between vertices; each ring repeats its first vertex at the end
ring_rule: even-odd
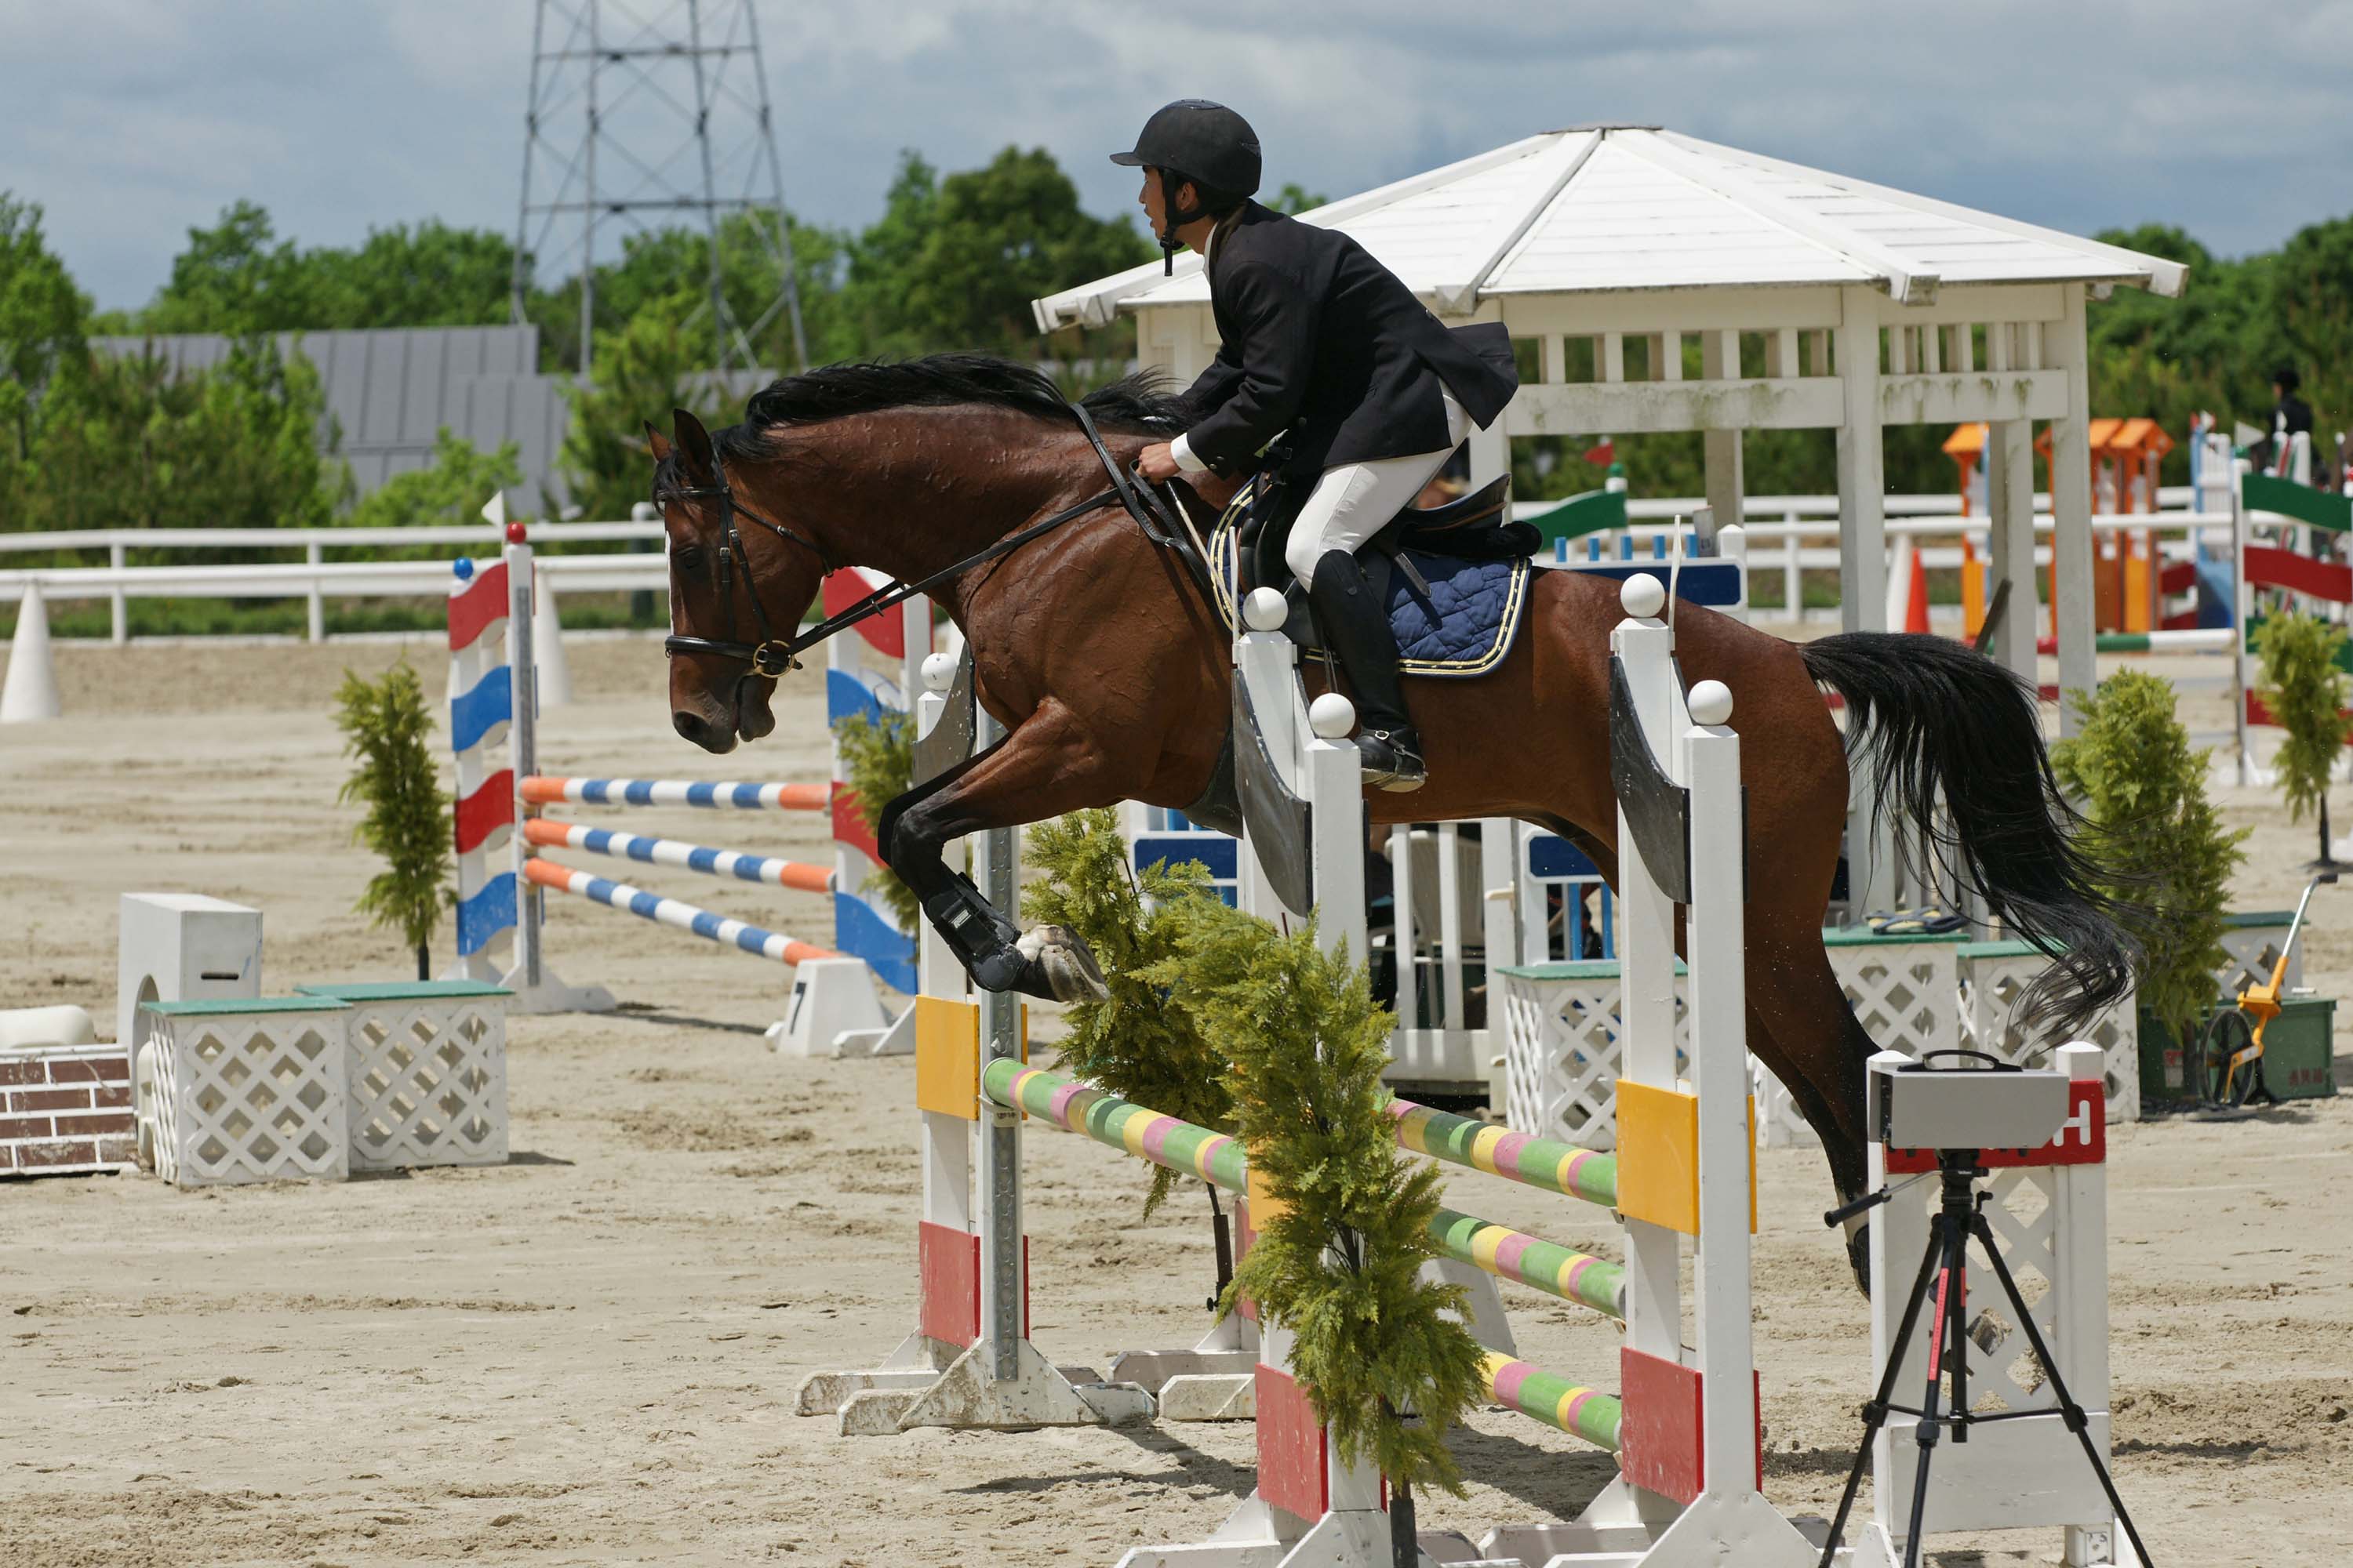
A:
MULTIPOLYGON (((2019 1295, 2019 1281, 2009 1274, 2009 1265, 2002 1262, 2002 1251, 1993 1244, 1993 1227, 1986 1222, 1986 1197, 1977 1190, 1977 1182, 1986 1175, 1984 1166, 1977 1164, 1974 1150, 1939 1150, 1937 1171, 1944 1180, 1944 1199, 1937 1215, 1929 1220, 1927 1251, 1920 1258, 1920 1274, 1913 1279, 1911 1300, 1904 1302, 1904 1321, 1897 1328, 1894 1345, 1887 1347, 1887 1371, 1880 1373, 1880 1387, 1864 1406, 1864 1443, 1854 1450, 1854 1467, 1847 1472, 1847 1490, 1838 1497, 1838 1516, 1831 1519, 1831 1537, 1821 1547, 1821 1568, 1831 1568, 1831 1556, 1838 1552, 1840 1537, 1847 1533, 1847 1514, 1854 1509, 1854 1493, 1864 1483, 1864 1467, 1871 1465, 1871 1446, 1878 1441, 1880 1429, 1887 1418, 1897 1410, 1904 1415, 1918 1415, 1918 1439, 1920 1439, 1920 1469, 1913 1476, 1911 1497, 1911 1530, 1904 1540, 1904 1568, 1920 1566, 1920 1523, 1927 1514, 1927 1472, 1929 1460, 1937 1458, 1937 1439, 1951 1427, 1955 1443, 1969 1441, 1969 1427, 1984 1427, 2002 1420, 2021 1420, 2026 1415, 2047 1415, 2047 1410, 1995 1410, 1979 1415, 1969 1408, 1969 1354, 1967 1354, 1967 1316, 1969 1316, 1969 1237, 1986 1248, 1986 1260, 1993 1265, 1993 1276, 2002 1286, 2002 1295, 2009 1298, 2009 1309, 2017 1314, 2019 1328, 2026 1333, 2026 1342, 2033 1347, 2035 1359, 2042 1363, 2042 1375, 2049 1378, 2052 1394, 2059 1401, 2059 1415, 2066 1429, 2075 1434, 2082 1443, 2082 1455, 2092 1460, 2092 1474, 2099 1476, 2099 1488, 2108 1493, 2108 1507, 2115 1509, 2115 1523, 2132 1540, 2132 1549, 2139 1554, 2141 1563, 2148 1563, 2148 1547, 2141 1544, 2141 1533, 2132 1526, 2132 1516, 2125 1512, 2125 1500, 2115 1495, 2115 1476, 2108 1474, 2106 1460, 2099 1458, 2099 1446, 2092 1441, 2089 1418, 2085 1408, 2075 1403, 2075 1396, 2066 1387, 2066 1378, 2059 1375, 2059 1361, 2052 1356, 2052 1347, 2042 1340, 2042 1328, 2035 1324, 2035 1314, 2026 1309, 2026 1300, 2019 1295), (1927 1338, 1927 1396, 1915 1406, 1894 1403, 1897 1375, 1904 1371, 1904 1352, 1911 1349, 1913 1328, 1920 1324, 1920 1309, 1927 1305, 1929 1286, 1937 1291, 1937 1321, 1929 1326, 1927 1338), (1939 1415, 1939 1396, 1944 1392, 1944 1380, 1953 1380, 1953 1413, 1939 1415)), ((1892 1197, 1887 1187, 1861 1197, 1845 1208, 1835 1208, 1824 1215, 1831 1227, 1885 1204, 1892 1197)))

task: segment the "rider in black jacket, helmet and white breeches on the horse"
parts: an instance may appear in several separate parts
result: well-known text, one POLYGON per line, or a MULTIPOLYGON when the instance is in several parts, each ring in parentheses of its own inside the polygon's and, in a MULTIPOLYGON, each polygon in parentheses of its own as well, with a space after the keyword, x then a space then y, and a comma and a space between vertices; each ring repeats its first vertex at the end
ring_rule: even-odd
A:
POLYGON ((1337 228, 1249 200, 1259 136, 1242 115, 1179 99, 1144 122, 1132 153, 1144 212, 1174 261, 1191 244, 1209 275, 1224 346, 1186 393, 1193 425, 1144 449, 1148 480, 1257 473, 1289 430, 1282 477, 1313 482, 1282 559, 1308 585, 1325 642, 1358 696, 1365 780, 1419 790, 1421 736, 1405 708, 1398 637, 1355 552, 1428 482, 1471 423, 1482 430, 1520 376, 1501 322, 1447 329, 1398 275, 1337 228))

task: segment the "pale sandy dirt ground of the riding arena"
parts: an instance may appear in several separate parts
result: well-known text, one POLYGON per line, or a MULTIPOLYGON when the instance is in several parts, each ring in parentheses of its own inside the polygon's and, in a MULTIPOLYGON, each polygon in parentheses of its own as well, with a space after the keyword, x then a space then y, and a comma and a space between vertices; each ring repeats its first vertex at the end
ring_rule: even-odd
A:
MULTIPOLYGON (((435 644, 405 656, 440 693, 435 644)), ((61 649, 71 717, 0 731, 0 1006, 78 1001, 108 1027, 115 896, 139 889, 264 910, 266 992, 405 978, 398 943, 351 912, 374 867, 334 804, 348 764, 329 717, 346 665, 400 654, 61 649)), ((814 677, 788 684, 779 738, 715 764, 668 731, 656 642, 574 639, 569 658, 581 701, 544 719, 544 771, 826 771, 814 677)), ((2219 729, 2226 703, 2186 715, 2219 729)), ((2221 799, 2257 827, 2238 907, 2292 905, 2311 827, 2261 790, 2221 799)), ((826 832, 696 811, 626 825, 802 858, 826 832)), ((828 931, 814 898, 631 870, 828 931)), ((1249 1490, 1247 1425, 840 1439, 795 1418, 805 1373, 871 1366, 913 1324, 913 1065, 781 1060, 760 1030, 786 971, 551 900, 551 964, 624 1011, 511 1023, 513 1164, 193 1194, 0 1182, 0 1566, 1108 1568, 1129 1544, 1207 1535, 1249 1490)), ((2346 900, 2318 900, 2306 980, 2322 994, 2353 983, 2346 900)), ((2339 1056, 2339 1081, 2348 1070, 2339 1056)), ((2348 1561, 2353 1110, 2301 1100, 2111 1140, 2118 1476, 2151 1549, 2167 1566, 2348 1561)), ((1760 1175, 1767 1493, 1828 1512, 1868 1392, 1866 1305, 1819 1225, 1819 1159, 1767 1150, 1760 1175)), ((1482 1215, 1614 1251, 1581 1206, 1459 1182, 1482 1215)), ((1141 1192, 1106 1150, 1028 1140, 1033 1331, 1054 1359, 1202 1331, 1202 1204, 1141 1225, 1141 1192)), ((1614 1333, 1506 1300, 1522 1354, 1614 1382, 1614 1333)), ((1426 1497, 1426 1528, 1574 1514, 1612 1472, 1499 1410, 1461 1458, 1473 1490, 1426 1497)), ((2035 1563, 2057 1544, 1939 1537, 1932 1561, 2035 1563)))

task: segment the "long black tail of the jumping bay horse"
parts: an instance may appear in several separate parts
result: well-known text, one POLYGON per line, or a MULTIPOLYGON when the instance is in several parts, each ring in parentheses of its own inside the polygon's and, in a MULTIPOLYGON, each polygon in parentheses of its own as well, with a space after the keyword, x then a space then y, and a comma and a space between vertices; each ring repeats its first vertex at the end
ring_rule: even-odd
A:
POLYGON ((2021 1020, 2078 1032, 2132 990, 2132 907, 2101 891, 2085 818, 2052 778, 2035 689, 1946 637, 1845 632, 1802 644, 1805 670, 1847 701, 1847 757, 1871 769, 1873 813, 1901 813, 1948 886, 2052 957, 2021 1020), (1939 813, 1939 806, 1944 809, 1939 813))

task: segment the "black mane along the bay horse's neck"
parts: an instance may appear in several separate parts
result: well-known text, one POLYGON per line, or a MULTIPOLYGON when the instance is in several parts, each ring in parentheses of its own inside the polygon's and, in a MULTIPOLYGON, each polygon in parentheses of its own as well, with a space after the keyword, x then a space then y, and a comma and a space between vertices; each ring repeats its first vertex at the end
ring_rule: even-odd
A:
MULTIPOLYGON (((1160 369, 1099 386, 1080 400, 1104 430, 1174 435, 1186 425, 1184 400, 1160 369)), ((718 430, 722 458, 776 456, 776 433, 880 409, 995 407, 1071 423, 1064 393, 1035 364, 995 355, 951 353, 922 360, 826 364, 786 376, 751 395, 744 423, 718 430)))

